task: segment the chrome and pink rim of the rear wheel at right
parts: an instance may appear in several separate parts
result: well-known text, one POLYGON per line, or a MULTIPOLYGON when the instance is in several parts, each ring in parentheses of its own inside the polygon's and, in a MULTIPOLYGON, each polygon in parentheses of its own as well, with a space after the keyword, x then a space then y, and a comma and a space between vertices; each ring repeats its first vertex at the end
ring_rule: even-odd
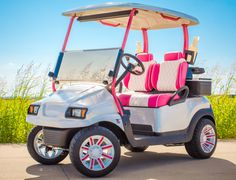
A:
POLYGON ((210 153, 215 147, 216 134, 211 125, 205 125, 201 132, 200 137, 201 148, 205 153, 210 153))

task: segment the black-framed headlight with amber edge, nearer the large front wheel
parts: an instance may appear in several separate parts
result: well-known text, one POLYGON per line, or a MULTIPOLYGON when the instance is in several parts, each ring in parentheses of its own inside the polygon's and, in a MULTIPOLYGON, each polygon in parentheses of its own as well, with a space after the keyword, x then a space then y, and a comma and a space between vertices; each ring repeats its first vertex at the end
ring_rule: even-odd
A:
POLYGON ((66 111, 67 118, 78 118, 78 119, 85 119, 87 108, 77 108, 77 107, 70 107, 66 111))

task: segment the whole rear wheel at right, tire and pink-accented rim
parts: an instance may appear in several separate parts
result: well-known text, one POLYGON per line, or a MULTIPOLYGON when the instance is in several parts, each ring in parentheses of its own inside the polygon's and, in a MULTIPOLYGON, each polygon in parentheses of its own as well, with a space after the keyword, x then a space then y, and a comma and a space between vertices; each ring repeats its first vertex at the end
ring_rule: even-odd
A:
POLYGON ((216 144, 215 124, 209 119, 202 119, 197 124, 192 140, 185 143, 185 149, 193 158, 207 159, 214 153, 216 144))

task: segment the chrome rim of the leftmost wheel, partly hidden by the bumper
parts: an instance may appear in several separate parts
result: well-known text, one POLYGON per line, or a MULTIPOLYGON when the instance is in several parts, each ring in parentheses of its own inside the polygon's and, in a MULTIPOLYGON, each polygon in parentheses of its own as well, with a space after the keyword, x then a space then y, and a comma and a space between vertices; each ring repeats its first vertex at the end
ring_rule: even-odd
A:
POLYGON ((48 147, 44 144, 43 130, 40 130, 34 138, 34 149, 39 156, 45 159, 55 159, 63 153, 62 149, 48 147))

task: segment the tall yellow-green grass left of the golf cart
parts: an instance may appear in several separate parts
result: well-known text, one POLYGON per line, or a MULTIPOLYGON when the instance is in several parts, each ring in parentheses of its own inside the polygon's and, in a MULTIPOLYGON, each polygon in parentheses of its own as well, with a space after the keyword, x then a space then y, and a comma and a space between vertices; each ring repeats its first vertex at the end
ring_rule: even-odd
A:
POLYGON ((24 143, 33 125, 26 122, 31 102, 41 99, 47 92, 47 78, 37 76, 39 66, 22 66, 16 75, 16 85, 8 94, 5 82, 0 80, 0 143, 24 143), (6 98, 7 96, 7 98, 6 98))

